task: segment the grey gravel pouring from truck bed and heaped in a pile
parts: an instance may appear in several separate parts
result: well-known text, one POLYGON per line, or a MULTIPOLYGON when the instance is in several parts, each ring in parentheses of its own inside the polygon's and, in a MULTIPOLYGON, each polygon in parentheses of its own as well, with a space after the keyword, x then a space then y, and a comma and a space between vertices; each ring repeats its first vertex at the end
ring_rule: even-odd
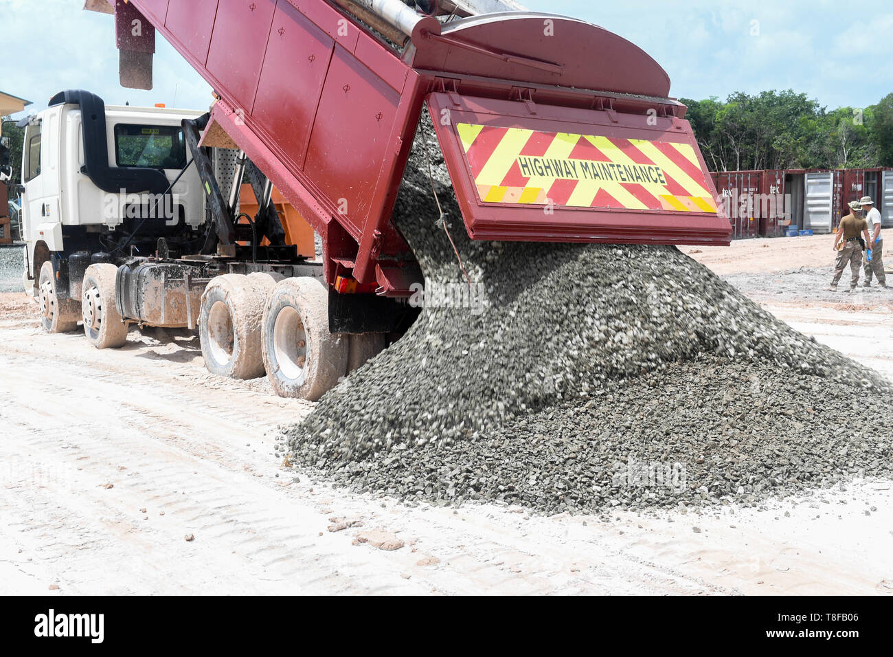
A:
POLYGON ((406 501, 548 513, 751 503, 889 474, 889 382, 677 248, 469 240, 430 125, 394 216, 426 290, 466 293, 429 299, 288 430, 297 465, 406 501))

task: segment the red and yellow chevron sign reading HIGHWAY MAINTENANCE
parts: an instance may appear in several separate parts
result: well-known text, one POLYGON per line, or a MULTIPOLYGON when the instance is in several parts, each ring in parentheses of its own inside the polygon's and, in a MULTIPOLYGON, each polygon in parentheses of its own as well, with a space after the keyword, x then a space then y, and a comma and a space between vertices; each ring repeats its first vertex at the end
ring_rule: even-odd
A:
POLYGON ((481 203, 716 214, 695 149, 458 123, 481 203))

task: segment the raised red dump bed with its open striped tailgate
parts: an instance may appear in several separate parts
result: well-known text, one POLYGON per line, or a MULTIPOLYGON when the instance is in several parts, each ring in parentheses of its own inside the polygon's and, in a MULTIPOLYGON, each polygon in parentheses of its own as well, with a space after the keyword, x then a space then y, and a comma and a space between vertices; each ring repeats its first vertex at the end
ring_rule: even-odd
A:
POLYGON ((390 213, 425 103, 473 239, 729 243, 666 73, 605 29, 489 14, 417 30, 400 51, 329 0, 130 5, 208 80, 213 122, 321 233, 330 282, 405 291, 414 258, 390 213))

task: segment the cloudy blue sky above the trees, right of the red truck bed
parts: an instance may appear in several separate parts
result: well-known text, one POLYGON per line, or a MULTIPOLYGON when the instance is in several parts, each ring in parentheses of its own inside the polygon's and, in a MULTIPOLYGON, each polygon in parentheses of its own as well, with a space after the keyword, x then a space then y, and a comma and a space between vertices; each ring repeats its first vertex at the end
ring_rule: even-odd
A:
POLYGON ((642 47, 676 97, 793 88, 822 105, 872 105, 893 91, 893 17, 883 0, 525 0, 596 22, 642 47), (752 37, 751 21, 759 35, 752 37))

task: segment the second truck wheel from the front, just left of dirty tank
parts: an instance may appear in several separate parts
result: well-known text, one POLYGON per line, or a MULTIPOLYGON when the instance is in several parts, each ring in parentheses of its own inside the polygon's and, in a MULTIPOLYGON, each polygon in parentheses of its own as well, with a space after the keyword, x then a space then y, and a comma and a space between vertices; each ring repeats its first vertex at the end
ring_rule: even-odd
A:
POLYGON ((110 264, 90 265, 84 272, 80 312, 84 319, 84 335, 96 349, 115 349, 127 342, 129 325, 115 307, 114 280, 118 267, 110 264))

